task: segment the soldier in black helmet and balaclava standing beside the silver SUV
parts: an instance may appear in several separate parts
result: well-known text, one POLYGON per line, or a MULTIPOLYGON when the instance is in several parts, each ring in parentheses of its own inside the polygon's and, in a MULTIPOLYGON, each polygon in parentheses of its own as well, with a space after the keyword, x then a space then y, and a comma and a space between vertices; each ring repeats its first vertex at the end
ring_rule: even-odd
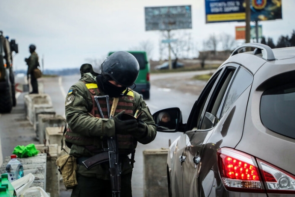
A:
MULTIPOLYGON (((89 65, 88 65, 89 66, 89 65)), ((86 66, 87 67, 87 66, 86 66)), ((92 68, 91 68, 92 70, 92 68)), ((81 71, 83 74, 83 70, 81 71)), ((132 154, 137 142, 148 144, 156 136, 156 126, 146 102, 130 87, 139 73, 139 64, 130 53, 118 51, 101 65, 101 74, 93 70, 83 74, 79 82, 70 87, 65 101, 65 116, 68 130, 65 135, 70 155, 77 158, 78 185, 71 197, 112 197, 109 162, 87 169, 82 162, 105 151, 107 137, 118 140, 119 162, 121 164, 121 197, 132 197, 131 173, 132 154), (118 98, 113 119, 109 119, 106 99, 100 99, 101 117, 94 96, 108 95, 112 106, 118 98), (123 114, 141 114, 139 120, 122 120, 123 114)))

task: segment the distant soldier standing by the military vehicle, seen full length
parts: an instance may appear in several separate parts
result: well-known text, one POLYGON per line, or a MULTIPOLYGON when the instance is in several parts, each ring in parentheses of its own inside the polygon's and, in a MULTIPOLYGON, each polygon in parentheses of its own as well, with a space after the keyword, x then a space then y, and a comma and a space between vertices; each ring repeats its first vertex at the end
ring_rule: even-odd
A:
POLYGON ((32 92, 29 94, 38 94, 38 81, 36 77, 33 74, 33 70, 39 66, 39 57, 38 54, 35 52, 36 46, 31 44, 29 45, 29 52, 30 56, 29 58, 25 59, 25 62, 28 65, 28 72, 27 72, 27 79, 29 80, 29 75, 30 75, 30 83, 32 86, 32 92))

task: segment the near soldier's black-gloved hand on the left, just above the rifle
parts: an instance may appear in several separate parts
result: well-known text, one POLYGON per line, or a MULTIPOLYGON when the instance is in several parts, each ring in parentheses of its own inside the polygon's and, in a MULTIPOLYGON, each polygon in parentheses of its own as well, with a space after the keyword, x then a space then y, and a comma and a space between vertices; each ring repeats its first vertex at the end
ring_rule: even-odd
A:
POLYGON ((135 119, 132 120, 121 120, 121 116, 125 111, 121 111, 113 120, 115 121, 116 134, 129 134, 136 131, 138 128, 138 123, 135 119))

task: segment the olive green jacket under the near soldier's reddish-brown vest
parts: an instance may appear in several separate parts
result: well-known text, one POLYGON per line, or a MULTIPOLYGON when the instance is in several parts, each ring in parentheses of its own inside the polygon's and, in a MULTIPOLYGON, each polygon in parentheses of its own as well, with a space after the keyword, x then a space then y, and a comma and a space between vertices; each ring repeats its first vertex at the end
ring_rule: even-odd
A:
MULTIPOLYGON (((65 117, 69 128, 72 132, 77 132, 80 135, 86 135, 94 138, 114 136, 116 133, 114 120, 107 118, 94 118, 89 116, 88 112, 91 111, 93 103, 89 90, 83 81, 96 84, 95 77, 90 73, 85 73, 77 83, 70 87, 65 101, 65 117)), ((100 94, 104 95, 101 90, 100 94)), ((141 139, 137 139, 137 141, 142 144, 148 144, 156 137, 156 126, 148 106, 140 94, 134 92, 134 101, 135 103, 133 112, 135 114, 137 109, 140 110, 139 112, 143 112, 141 115, 141 120, 147 125, 148 129, 147 135, 141 139)), ((95 154, 91 153, 84 146, 73 144, 71 146, 70 155, 79 158, 91 157, 95 154)), ((122 173, 124 174, 124 172, 131 172, 132 167, 129 164, 129 159, 120 158, 120 160, 122 161, 122 173)), ((95 165, 90 170, 87 170, 84 165, 78 165, 78 173, 85 176, 96 175, 97 178, 102 179, 108 179, 108 169, 109 164, 107 163, 95 165)))

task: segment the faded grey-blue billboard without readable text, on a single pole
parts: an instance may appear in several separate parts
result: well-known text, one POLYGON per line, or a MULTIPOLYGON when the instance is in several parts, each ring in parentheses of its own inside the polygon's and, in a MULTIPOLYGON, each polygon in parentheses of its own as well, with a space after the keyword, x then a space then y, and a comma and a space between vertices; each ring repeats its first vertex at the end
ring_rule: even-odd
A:
POLYGON ((146 31, 192 29, 190 5, 145 7, 146 31))

